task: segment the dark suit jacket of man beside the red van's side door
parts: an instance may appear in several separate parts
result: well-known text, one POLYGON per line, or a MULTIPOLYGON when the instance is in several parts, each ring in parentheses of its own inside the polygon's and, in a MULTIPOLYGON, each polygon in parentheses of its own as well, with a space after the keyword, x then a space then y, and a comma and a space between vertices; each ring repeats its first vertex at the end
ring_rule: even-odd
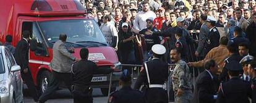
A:
MULTIPOLYGON (((21 72, 23 69, 29 68, 28 66, 28 51, 29 45, 25 39, 20 39, 15 49, 15 60, 18 65, 20 65, 21 72)), ((29 69, 28 69, 29 70, 29 69)))

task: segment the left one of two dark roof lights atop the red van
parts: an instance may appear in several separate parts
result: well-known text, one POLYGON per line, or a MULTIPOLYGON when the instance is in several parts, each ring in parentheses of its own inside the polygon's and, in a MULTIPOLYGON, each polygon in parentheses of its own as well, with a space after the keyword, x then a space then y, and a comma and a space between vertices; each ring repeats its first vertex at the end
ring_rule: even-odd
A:
POLYGON ((45 0, 35 0, 32 4, 31 10, 53 10, 49 3, 45 0))

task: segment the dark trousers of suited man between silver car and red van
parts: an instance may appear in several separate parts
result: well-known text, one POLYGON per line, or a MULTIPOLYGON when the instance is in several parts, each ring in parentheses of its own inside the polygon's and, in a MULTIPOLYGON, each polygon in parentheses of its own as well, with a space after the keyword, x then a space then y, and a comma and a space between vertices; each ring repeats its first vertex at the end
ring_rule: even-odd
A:
POLYGON ((33 83, 33 78, 31 75, 30 70, 28 70, 27 73, 21 72, 22 80, 25 81, 25 84, 28 86, 28 91, 30 93, 30 96, 33 97, 34 101, 38 101, 38 93, 35 87, 35 84, 33 83))

